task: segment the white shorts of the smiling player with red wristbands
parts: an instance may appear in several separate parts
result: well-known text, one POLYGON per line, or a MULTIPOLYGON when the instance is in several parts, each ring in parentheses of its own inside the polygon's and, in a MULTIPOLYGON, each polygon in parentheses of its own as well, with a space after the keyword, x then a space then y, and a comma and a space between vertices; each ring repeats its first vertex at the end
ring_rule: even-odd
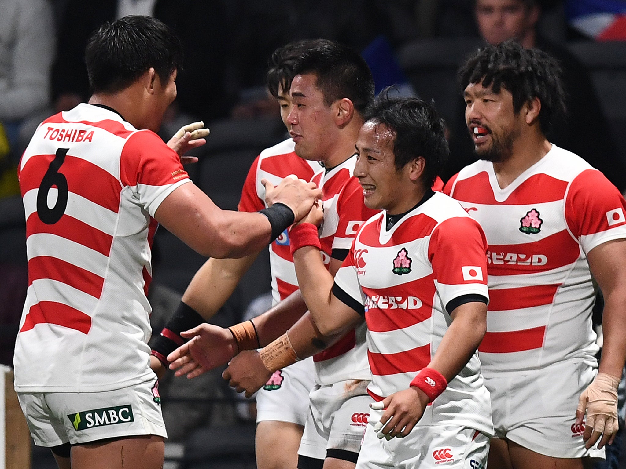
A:
MULTIPOLYGON (((374 421, 382 411, 371 410, 374 421)), ((489 437, 459 425, 415 426, 404 438, 379 439, 367 425, 356 469, 485 469, 489 437)))

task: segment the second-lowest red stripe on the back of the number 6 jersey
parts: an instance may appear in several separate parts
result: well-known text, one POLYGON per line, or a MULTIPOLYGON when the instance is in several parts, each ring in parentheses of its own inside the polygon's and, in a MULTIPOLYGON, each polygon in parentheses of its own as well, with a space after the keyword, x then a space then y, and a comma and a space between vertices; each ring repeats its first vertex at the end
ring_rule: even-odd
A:
POLYGON ((84 291, 88 295, 100 298, 105 279, 81 269, 69 262, 50 256, 37 256, 28 261, 28 285, 36 280, 56 280, 68 282, 76 290, 84 291))

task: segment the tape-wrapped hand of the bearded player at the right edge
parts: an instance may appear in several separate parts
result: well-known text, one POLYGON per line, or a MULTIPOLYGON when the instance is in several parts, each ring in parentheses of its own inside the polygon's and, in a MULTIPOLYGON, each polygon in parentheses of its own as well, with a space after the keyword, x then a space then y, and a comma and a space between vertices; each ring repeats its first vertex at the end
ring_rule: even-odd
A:
POLYGON ((587 412, 583 441, 589 449, 602 436, 598 448, 607 443, 611 445, 617 435, 617 386, 620 378, 607 373, 598 373, 595 380, 587 386, 578 399, 576 409, 576 423, 580 425, 587 412))

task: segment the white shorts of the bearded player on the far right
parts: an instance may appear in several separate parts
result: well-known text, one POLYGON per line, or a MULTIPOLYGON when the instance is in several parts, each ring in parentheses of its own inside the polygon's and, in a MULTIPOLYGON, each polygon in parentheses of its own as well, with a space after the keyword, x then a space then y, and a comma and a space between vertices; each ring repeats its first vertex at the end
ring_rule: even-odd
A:
POLYGON ((575 423, 578 398, 596 373, 587 363, 572 360, 531 371, 491 373, 483 368, 496 438, 554 458, 604 458, 604 448, 585 449, 585 426, 575 423))

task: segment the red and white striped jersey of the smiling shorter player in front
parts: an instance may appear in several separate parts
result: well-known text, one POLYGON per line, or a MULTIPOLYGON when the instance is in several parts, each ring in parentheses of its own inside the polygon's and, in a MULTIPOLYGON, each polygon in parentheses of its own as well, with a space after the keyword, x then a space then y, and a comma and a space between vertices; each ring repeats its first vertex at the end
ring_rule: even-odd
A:
MULTIPOLYGON (((389 231, 386 219, 378 214, 362 226, 333 288, 339 300, 365 311, 368 391, 376 400, 408 388, 428 365, 451 323, 449 311, 488 298, 485 235, 456 201, 436 192, 389 231)), ((477 353, 418 425, 451 423, 493 435, 477 353)))

